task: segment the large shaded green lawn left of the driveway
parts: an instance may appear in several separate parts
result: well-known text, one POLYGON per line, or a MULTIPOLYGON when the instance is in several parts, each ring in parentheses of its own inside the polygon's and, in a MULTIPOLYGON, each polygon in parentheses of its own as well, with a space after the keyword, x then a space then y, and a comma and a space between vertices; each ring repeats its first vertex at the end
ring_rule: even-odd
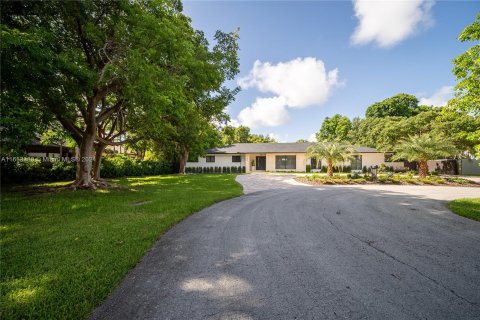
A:
POLYGON ((238 196, 235 175, 115 180, 125 189, 1 194, 1 318, 82 319, 159 236, 238 196))

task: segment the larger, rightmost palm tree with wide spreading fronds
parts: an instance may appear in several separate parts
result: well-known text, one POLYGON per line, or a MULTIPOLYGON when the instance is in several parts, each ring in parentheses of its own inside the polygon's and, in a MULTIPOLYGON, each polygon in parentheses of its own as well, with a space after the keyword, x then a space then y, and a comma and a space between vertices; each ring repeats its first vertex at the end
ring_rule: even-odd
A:
POLYGON ((425 178, 428 174, 428 160, 453 156, 458 153, 452 141, 441 135, 423 133, 409 136, 395 148, 395 160, 417 161, 418 175, 425 178))

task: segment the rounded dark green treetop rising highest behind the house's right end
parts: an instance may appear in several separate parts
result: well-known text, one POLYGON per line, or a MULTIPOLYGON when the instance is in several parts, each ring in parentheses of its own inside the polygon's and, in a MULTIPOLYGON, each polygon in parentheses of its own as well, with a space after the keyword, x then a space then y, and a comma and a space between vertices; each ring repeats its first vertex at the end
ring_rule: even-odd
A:
POLYGON ((411 117, 419 111, 421 110, 418 109, 417 97, 400 93, 383 101, 375 102, 367 108, 365 116, 367 118, 411 117))

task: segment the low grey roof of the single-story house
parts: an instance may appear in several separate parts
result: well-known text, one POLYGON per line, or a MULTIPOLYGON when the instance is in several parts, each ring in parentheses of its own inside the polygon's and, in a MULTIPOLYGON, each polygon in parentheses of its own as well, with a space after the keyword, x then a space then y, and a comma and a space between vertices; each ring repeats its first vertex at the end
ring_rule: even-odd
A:
MULTIPOLYGON (((311 142, 302 143, 235 143, 229 146, 208 149, 206 153, 231 154, 231 153, 281 153, 281 152, 306 152, 311 142)), ((358 153, 376 153, 375 148, 354 146, 358 153)))

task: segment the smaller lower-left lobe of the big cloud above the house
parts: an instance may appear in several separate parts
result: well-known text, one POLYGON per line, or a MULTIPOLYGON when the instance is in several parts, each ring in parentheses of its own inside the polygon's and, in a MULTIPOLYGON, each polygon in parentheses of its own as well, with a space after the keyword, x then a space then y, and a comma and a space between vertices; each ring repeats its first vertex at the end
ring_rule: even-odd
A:
POLYGON ((250 128, 276 127, 289 120, 283 97, 257 98, 251 107, 240 111, 238 120, 250 128))

